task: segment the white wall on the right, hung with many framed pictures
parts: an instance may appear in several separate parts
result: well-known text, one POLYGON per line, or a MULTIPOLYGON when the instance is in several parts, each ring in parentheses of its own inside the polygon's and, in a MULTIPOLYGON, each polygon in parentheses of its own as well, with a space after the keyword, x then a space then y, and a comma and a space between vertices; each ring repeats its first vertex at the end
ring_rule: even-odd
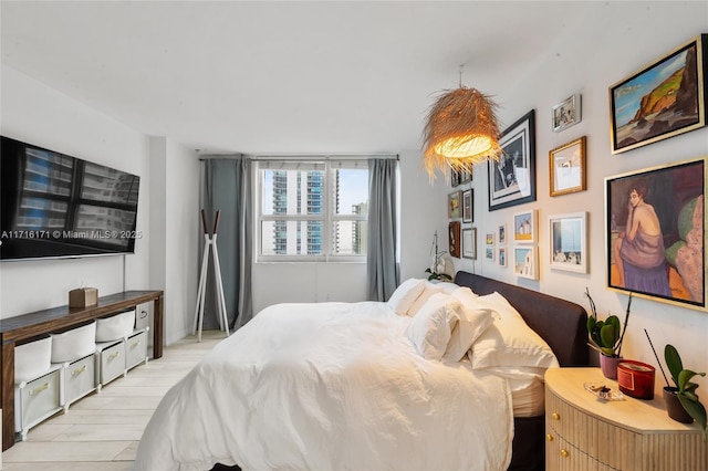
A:
MULTIPOLYGON (((539 211, 540 279, 517 279, 511 268, 500 268, 496 261, 487 262, 481 258, 475 265, 462 260, 459 268, 565 297, 586 308, 589 303, 583 293, 587 286, 603 317, 612 312, 623 318, 627 295, 605 289, 604 178, 706 156, 708 128, 612 155, 607 88, 693 36, 708 32, 706 4, 660 2, 638 8, 635 2, 612 2, 605 6, 604 11, 589 12, 579 18, 576 24, 566 27, 565 35, 555 48, 539 54, 537 69, 520 76, 514 90, 503 91, 497 96, 501 118, 507 124, 535 109, 537 201, 489 212, 487 169, 482 167, 479 174, 483 177, 472 181, 480 257, 483 251, 479 249, 483 250, 486 232, 493 232, 501 223, 511 227, 516 212, 539 211), (582 94, 582 122, 561 133, 553 133, 551 108, 573 93, 582 94), (581 136, 587 136, 587 190, 551 198, 549 150, 581 136), (589 213, 587 274, 549 269, 548 218, 575 211, 589 213)), ((497 91, 486 92, 494 94, 497 91)), ((671 343, 678 347, 686 365, 696 370, 708 370, 708 313, 635 297, 623 356, 658 367, 644 328, 660 350, 660 357, 664 345, 671 343)), ((705 378, 701 381, 708 388, 708 381, 705 378)), ((663 383, 657 373, 657 387, 663 383)))

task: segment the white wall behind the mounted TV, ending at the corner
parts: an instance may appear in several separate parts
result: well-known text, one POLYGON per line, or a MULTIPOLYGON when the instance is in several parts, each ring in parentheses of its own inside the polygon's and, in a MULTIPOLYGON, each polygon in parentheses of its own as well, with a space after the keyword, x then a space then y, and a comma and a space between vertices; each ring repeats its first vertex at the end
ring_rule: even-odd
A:
MULTIPOLYGON (((149 220, 145 136, 4 65, 1 118, 4 136, 138 175, 137 229, 145 231, 149 220)), ((98 295, 148 287, 148 244, 149 233, 144 232, 135 254, 3 262, 0 317, 66 304, 69 291, 82 284, 97 287, 98 295)))

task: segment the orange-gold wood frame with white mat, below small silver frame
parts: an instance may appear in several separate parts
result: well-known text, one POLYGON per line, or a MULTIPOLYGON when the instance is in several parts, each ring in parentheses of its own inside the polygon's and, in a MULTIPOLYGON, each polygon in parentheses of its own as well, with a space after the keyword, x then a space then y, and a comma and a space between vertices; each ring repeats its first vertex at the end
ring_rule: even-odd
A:
POLYGON ((586 189, 585 142, 586 137, 582 136, 549 153, 552 197, 586 189))

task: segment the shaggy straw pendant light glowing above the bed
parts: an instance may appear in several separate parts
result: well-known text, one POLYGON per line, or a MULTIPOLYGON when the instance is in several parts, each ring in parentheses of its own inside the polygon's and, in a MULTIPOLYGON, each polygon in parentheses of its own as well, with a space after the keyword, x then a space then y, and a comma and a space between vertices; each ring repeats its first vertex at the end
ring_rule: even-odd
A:
POLYGON ((471 170, 471 166, 488 159, 498 159, 499 124, 497 104, 476 88, 460 85, 445 91, 428 112, 424 128, 424 164, 433 177, 435 170, 444 174, 471 170))

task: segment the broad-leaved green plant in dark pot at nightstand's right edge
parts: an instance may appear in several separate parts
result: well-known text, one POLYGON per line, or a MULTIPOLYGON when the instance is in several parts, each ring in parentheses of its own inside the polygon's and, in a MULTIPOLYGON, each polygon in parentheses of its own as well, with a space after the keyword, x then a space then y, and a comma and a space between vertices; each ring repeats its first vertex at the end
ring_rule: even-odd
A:
POLYGON ((705 441, 706 422, 708 422, 706 407, 700 402, 696 394, 698 384, 693 383, 691 379, 694 376, 706 376, 706 374, 685 369, 681 357, 674 345, 669 344, 664 347, 664 359, 676 385, 664 387, 664 400, 666 401, 668 415, 679 422, 690 423, 696 420, 702 431, 705 441))

